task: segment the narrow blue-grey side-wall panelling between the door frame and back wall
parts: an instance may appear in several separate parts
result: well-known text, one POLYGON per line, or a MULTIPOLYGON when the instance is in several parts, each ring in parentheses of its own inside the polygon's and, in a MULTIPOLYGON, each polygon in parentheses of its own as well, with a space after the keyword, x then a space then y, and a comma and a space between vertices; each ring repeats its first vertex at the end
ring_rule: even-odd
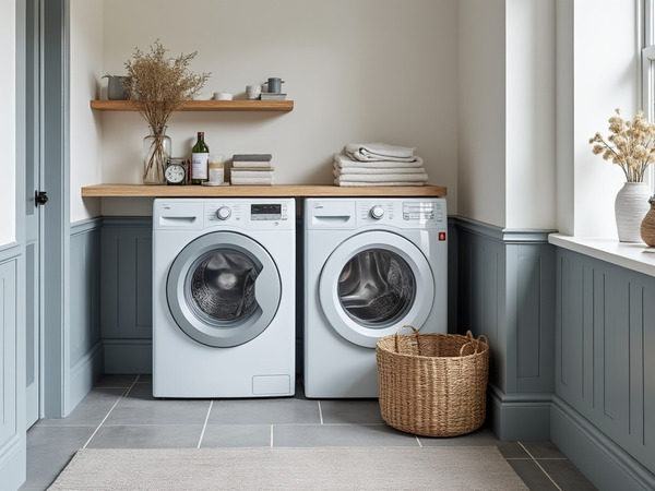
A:
POLYGON ((71 225, 71 325, 69 336, 73 408, 104 372, 100 339, 100 219, 71 225))

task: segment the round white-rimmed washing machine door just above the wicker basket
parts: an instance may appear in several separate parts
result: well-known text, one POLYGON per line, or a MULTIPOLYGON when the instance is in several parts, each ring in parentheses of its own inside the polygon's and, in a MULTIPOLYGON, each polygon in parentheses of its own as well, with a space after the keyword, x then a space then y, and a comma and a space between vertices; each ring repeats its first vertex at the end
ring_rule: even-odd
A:
POLYGON ((426 256, 406 238, 362 232, 342 242, 325 262, 320 304, 342 337, 374 348, 400 326, 424 324, 434 299, 432 274, 426 256))

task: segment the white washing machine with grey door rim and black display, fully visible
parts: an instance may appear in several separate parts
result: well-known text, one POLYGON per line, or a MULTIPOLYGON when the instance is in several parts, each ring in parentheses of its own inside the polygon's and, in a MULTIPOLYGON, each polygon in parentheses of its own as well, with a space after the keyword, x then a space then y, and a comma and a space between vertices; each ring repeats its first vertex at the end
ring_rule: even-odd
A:
POLYGON ((295 393, 293 199, 157 199, 154 397, 295 393))

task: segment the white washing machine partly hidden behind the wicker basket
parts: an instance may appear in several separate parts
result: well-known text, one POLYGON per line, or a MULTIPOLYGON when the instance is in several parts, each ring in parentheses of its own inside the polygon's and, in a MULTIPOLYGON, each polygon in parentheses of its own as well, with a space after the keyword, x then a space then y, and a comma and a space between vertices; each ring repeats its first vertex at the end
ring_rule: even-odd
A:
POLYGON ((378 397, 380 337, 446 332, 445 200, 308 199, 303 212, 305 393, 378 397))

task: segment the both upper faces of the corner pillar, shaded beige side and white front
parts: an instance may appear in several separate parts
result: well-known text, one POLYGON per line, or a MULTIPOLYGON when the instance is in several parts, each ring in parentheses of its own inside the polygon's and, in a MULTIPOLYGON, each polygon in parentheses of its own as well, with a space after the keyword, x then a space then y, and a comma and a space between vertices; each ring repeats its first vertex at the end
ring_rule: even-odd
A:
POLYGON ((462 0, 457 49, 458 214, 553 228, 555 2, 462 0))

